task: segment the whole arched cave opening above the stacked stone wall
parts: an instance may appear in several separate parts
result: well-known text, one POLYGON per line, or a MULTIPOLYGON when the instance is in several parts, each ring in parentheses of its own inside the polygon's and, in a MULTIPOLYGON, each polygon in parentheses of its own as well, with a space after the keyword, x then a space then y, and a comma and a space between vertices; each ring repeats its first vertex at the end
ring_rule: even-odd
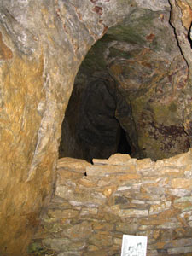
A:
POLYGON ((166 11, 136 9, 90 49, 62 125, 60 157, 108 158, 122 142, 137 159, 188 151, 188 67, 169 18, 166 11))

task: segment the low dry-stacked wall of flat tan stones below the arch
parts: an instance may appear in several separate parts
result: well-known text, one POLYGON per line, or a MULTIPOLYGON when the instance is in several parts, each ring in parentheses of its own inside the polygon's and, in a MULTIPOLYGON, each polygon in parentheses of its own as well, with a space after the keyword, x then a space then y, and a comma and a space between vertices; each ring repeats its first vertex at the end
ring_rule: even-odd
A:
POLYGON ((148 236, 148 256, 191 255, 192 148, 156 162, 128 154, 93 162, 58 161, 55 196, 29 252, 120 255, 128 234, 148 236))

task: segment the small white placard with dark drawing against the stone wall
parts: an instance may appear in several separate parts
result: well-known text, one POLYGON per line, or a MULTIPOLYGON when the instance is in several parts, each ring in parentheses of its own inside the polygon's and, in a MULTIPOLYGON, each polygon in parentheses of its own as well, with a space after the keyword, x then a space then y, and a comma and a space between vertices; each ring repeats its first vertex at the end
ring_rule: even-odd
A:
POLYGON ((147 236, 123 235, 121 256, 146 256, 147 236))

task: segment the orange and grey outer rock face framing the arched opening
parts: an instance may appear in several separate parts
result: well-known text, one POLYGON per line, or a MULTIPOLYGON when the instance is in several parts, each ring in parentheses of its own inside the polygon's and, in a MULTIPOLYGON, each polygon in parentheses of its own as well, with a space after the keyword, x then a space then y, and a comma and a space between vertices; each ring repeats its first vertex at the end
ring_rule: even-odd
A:
MULTIPOLYGON (((192 66, 186 36, 191 3, 172 0, 171 4, 172 25, 189 68, 188 71, 181 61, 179 67, 174 64, 171 75, 177 69, 182 73, 181 94, 185 104, 182 121, 191 143, 192 66), (185 73, 188 77, 184 84, 185 73)), ((39 211, 52 194, 61 121, 81 61, 108 27, 127 19, 138 8, 164 14, 169 3, 165 0, 1 1, 1 255, 26 254, 27 243, 38 225, 39 211)), ((160 17, 163 22, 163 16, 160 17)), ((149 34, 148 42, 152 39, 149 34)), ((148 59, 148 55, 143 57, 148 59)), ((117 73, 113 65, 111 70, 114 75, 117 73)), ((153 73, 151 75, 153 77, 153 73)), ((175 91, 174 86, 173 89, 175 91)), ((170 108, 175 113, 176 107, 170 108)), ((182 121, 179 119, 180 125, 182 121)))

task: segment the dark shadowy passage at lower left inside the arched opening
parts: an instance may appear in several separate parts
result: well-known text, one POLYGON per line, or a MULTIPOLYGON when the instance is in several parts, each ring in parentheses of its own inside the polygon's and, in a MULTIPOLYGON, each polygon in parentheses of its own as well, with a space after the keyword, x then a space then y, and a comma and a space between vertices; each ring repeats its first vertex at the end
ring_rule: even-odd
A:
MULTIPOLYGON (((115 153, 131 154, 131 145, 119 118, 124 100, 115 81, 105 74, 105 77, 94 78, 79 93, 77 90, 76 84, 62 125, 60 157, 91 162, 94 158, 107 159, 115 153)), ((127 111, 131 109, 123 107, 125 115, 129 116, 127 111)))

